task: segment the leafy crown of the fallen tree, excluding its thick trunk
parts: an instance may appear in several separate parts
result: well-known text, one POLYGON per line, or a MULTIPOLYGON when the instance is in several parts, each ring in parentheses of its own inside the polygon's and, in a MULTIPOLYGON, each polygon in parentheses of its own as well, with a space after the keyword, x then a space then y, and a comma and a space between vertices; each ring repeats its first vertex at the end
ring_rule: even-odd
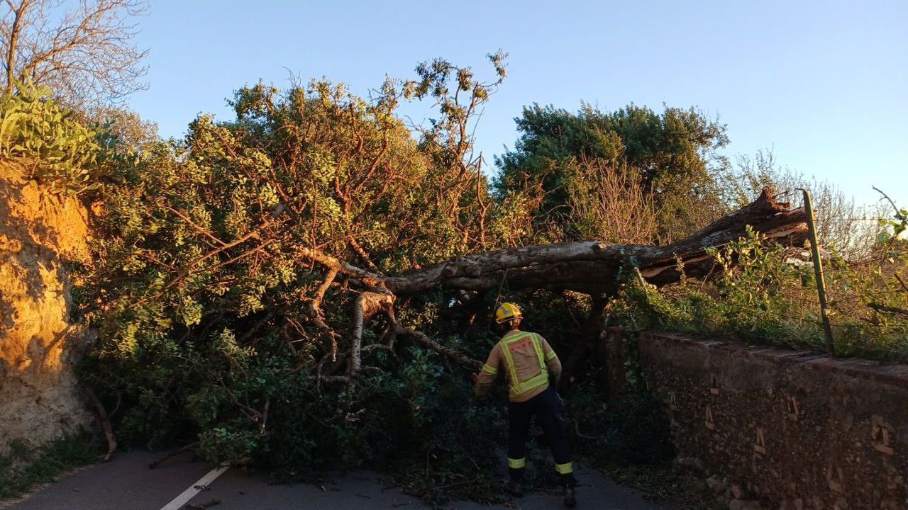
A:
MULTIPOLYGON (((449 80, 473 83, 443 67, 422 76, 436 98, 449 80)), ((467 87, 473 107, 491 86, 467 87)), ((395 273, 498 243, 480 234, 489 206, 477 200, 489 195, 461 159, 466 119, 451 106, 418 142, 395 114, 403 93, 393 82, 371 101, 327 82, 259 84, 236 93, 236 122, 201 116, 182 142, 141 129, 104 139, 116 172, 99 190, 96 256, 74 297, 99 330, 84 377, 121 403, 124 445, 197 439, 206 458, 287 477, 373 466, 433 499, 500 498, 490 476, 506 422, 475 407, 465 370, 408 343, 364 352, 370 370, 349 385, 320 378, 345 372, 356 294, 339 278, 309 311, 327 275, 301 250, 395 273)), ((439 324, 439 300, 414 298, 399 319, 484 358, 489 338, 439 324)), ((364 344, 384 326, 367 327, 364 344)))

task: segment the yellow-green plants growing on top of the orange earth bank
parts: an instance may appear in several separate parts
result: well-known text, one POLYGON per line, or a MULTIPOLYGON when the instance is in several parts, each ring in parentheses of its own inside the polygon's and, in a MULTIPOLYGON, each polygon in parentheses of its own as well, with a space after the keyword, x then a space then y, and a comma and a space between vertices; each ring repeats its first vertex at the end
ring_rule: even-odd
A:
POLYGON ((0 158, 54 191, 96 186, 98 132, 50 99, 47 89, 22 85, 18 91, 0 95, 0 158))

